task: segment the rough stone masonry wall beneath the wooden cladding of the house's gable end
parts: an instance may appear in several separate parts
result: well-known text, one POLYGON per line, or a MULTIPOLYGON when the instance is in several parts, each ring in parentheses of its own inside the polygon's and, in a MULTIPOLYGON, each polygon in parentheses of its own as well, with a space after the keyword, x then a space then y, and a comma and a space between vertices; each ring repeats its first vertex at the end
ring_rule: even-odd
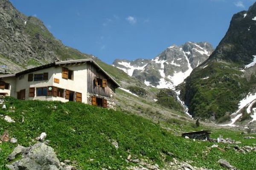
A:
POLYGON ((92 96, 104 98, 108 101, 108 108, 116 110, 116 93, 111 89, 111 97, 100 96, 98 94, 87 93, 87 104, 92 104, 92 96))

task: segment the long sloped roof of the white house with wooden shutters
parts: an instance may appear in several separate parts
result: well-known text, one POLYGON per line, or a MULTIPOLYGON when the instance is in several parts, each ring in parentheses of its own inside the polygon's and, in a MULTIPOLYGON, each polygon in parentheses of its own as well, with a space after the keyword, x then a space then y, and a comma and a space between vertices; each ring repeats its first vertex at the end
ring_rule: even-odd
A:
POLYGON ((15 77, 15 76, 19 76, 22 74, 28 74, 31 73, 33 71, 38 71, 38 70, 42 70, 44 68, 50 68, 53 66, 59 66, 59 65, 67 65, 67 64, 78 64, 78 63, 83 63, 83 62, 91 62, 93 63, 97 68, 99 68, 107 77, 109 77, 118 87, 121 87, 118 82, 116 82, 116 80, 114 80, 105 70, 103 70, 103 68, 101 68, 95 61, 93 61, 93 59, 76 59, 76 60, 67 60, 67 61, 56 61, 56 62, 52 62, 46 65, 41 65, 35 68, 29 68, 27 70, 21 71, 19 73, 16 74, 4 74, 4 75, 0 75, 0 78, 6 78, 6 77, 15 77))

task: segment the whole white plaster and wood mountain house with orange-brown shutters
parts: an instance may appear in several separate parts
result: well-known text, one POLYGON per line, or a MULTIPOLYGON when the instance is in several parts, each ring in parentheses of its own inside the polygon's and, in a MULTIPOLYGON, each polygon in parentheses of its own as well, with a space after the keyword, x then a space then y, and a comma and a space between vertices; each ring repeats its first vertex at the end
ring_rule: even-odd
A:
POLYGON ((118 87, 93 59, 56 61, 0 75, 0 95, 21 100, 74 101, 115 109, 118 87))

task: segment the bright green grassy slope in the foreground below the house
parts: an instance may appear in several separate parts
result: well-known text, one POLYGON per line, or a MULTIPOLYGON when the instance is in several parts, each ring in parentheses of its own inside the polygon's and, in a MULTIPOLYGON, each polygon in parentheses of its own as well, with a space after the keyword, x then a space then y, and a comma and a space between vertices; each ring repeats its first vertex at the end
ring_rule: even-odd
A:
MULTIPOLYGON (((9 135, 16 137, 19 144, 29 146, 34 143, 32 139, 41 132, 46 132, 47 139, 51 141, 49 145, 55 149, 61 161, 76 160, 81 169, 100 169, 108 166, 115 170, 125 169, 128 164, 124 158, 128 156, 128 150, 133 158, 148 157, 160 166, 164 164, 160 153, 171 152, 181 161, 194 161, 192 164, 198 167, 220 169, 217 161, 223 158, 239 169, 256 169, 255 152, 247 153, 245 156, 234 150, 209 151, 211 142, 183 139, 140 116, 76 102, 19 101, 9 98, 7 108, 11 105, 16 107, 14 113, 1 111, 1 114, 10 115, 16 123, 0 119, 1 134, 8 130, 9 135), (53 110, 52 106, 57 106, 57 110, 53 110), (23 123, 22 116, 25 118, 23 123), (116 140, 119 149, 116 150, 108 139, 116 140), (203 151, 207 151, 208 154, 204 154, 203 151)), ((166 126, 175 127, 176 124, 166 126)), ((230 133, 235 134, 232 131, 230 133)), ((0 145, 3 149, 0 151, 0 165, 7 163, 6 157, 16 145, 0 145)), ((166 161, 171 159, 167 156, 166 161)), ((4 166, 0 168, 5 169, 4 166)))

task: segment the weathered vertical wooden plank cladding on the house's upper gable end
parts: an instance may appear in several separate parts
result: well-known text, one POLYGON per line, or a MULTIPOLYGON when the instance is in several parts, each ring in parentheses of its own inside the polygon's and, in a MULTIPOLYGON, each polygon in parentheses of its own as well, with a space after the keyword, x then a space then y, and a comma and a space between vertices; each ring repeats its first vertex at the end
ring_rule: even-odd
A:
POLYGON ((102 70, 97 68, 93 63, 87 62, 87 92, 91 94, 98 94, 100 96, 111 97, 111 89, 115 91, 115 83, 106 76, 102 70), (96 79, 103 80, 103 87, 96 85, 96 79), (107 80, 107 82, 105 82, 107 80), (105 87, 106 84, 106 87, 105 87))

